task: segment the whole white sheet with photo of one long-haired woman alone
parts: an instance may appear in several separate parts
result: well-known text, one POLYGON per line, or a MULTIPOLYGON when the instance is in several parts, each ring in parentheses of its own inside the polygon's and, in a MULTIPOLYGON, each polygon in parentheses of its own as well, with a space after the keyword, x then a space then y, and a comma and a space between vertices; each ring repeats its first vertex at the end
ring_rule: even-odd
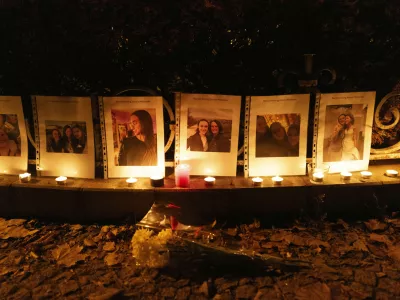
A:
POLYGON ((108 177, 165 174, 162 97, 104 97, 108 177))

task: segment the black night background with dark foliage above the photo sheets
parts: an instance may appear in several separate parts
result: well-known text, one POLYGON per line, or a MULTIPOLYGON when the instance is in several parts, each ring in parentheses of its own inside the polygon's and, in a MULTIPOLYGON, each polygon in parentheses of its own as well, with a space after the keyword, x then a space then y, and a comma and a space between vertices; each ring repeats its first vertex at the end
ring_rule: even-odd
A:
POLYGON ((35 94, 143 86, 172 105, 174 91, 296 93, 311 77, 379 101, 400 79, 399 32, 398 0, 1 0, 0 94, 29 117, 35 94))

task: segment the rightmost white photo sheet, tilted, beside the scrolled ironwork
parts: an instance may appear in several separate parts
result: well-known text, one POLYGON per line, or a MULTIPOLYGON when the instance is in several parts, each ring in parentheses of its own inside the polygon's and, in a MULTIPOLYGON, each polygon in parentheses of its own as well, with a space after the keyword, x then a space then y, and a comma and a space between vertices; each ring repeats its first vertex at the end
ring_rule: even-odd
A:
POLYGON ((368 169, 375 92, 322 94, 316 167, 329 173, 368 169))

